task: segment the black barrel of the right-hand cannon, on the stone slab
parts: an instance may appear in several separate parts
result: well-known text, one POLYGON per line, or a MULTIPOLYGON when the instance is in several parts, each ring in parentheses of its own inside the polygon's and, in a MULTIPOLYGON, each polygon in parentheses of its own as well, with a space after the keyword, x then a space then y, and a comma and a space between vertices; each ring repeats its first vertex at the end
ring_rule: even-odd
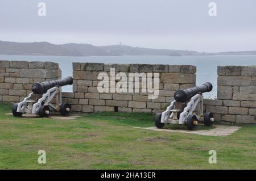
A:
POLYGON ((196 94, 212 91, 212 84, 205 82, 200 86, 191 87, 189 89, 179 89, 175 92, 174 98, 176 102, 184 103, 192 98, 196 94))

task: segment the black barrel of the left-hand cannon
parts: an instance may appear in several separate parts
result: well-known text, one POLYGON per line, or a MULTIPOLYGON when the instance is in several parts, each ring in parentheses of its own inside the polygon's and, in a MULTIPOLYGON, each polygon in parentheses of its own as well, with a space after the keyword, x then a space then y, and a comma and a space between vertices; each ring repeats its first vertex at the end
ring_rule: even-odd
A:
POLYGON ((73 84, 72 77, 67 77, 67 78, 56 80, 56 81, 36 82, 32 85, 32 91, 34 94, 43 94, 43 93, 46 93, 47 90, 51 89, 52 87, 66 86, 66 85, 72 85, 72 84, 73 84))

